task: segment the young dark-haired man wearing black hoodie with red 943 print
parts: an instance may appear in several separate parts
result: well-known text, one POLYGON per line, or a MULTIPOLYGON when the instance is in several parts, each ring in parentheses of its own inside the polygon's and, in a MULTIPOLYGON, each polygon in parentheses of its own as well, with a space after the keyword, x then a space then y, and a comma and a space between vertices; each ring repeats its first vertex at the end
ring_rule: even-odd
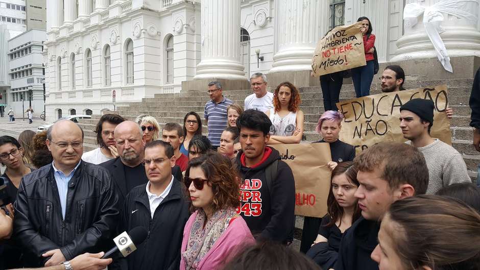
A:
POLYGON ((257 241, 289 244, 295 224, 295 181, 292 169, 267 146, 272 122, 260 111, 246 110, 237 121, 242 150, 236 164, 242 176, 237 213, 257 241))

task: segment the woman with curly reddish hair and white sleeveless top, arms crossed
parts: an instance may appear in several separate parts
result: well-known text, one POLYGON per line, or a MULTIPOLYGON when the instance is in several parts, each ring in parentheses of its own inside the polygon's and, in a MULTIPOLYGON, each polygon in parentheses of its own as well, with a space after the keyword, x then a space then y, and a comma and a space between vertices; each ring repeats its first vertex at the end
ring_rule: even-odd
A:
POLYGON ((277 86, 273 94, 273 112, 265 112, 272 121, 267 144, 300 143, 304 119, 303 112, 298 109, 300 103, 300 93, 295 85, 283 82, 277 86))

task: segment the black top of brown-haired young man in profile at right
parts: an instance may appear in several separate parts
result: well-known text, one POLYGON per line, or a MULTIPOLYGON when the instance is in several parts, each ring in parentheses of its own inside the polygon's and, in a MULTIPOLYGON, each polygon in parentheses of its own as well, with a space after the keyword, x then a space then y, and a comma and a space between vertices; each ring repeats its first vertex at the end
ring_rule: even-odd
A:
POLYGON ((375 270, 370 255, 378 244, 380 223, 360 217, 343 234, 335 270, 375 270))

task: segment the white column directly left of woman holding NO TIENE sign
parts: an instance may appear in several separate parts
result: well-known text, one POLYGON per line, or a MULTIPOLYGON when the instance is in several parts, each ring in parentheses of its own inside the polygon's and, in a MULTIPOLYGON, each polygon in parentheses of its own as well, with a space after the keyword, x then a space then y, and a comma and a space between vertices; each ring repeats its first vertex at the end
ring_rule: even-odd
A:
POLYGON ((275 1, 277 40, 270 72, 311 69, 318 40, 328 28, 328 1, 275 1))

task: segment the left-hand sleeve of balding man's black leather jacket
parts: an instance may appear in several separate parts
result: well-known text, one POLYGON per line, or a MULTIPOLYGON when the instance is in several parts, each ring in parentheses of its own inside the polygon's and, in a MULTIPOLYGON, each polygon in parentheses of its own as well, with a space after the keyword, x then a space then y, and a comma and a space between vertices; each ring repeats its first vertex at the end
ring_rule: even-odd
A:
POLYGON ((14 203, 14 239, 19 241, 22 247, 30 247, 30 251, 40 258, 43 253, 59 249, 52 240, 42 236, 29 220, 29 206, 25 190, 25 182, 20 182, 17 200, 14 203))

